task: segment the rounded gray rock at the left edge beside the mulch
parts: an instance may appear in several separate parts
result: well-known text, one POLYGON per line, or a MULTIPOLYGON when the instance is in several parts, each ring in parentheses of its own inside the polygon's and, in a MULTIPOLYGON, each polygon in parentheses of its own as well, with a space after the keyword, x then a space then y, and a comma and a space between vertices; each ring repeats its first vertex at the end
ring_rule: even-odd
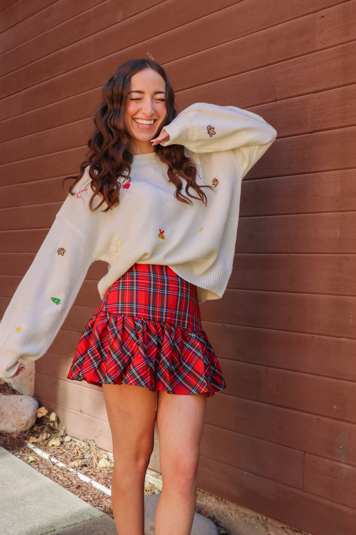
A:
POLYGON ((28 431, 36 422, 38 401, 26 395, 0 396, 0 433, 28 431))

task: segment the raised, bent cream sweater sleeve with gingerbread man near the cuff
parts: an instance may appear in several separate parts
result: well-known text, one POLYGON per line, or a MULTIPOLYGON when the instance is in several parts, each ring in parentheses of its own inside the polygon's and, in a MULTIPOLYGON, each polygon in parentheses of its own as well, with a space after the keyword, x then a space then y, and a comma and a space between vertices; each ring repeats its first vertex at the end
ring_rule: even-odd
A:
POLYGON ((235 106, 197 102, 181 111, 164 127, 169 140, 192 152, 232 150, 243 176, 266 152, 277 132, 262 117, 235 106))

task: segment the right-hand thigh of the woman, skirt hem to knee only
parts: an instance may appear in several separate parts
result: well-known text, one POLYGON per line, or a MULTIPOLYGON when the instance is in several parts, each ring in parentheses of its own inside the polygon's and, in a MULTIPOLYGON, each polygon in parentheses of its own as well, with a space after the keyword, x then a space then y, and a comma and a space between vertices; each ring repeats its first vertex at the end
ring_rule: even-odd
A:
POLYGON ((194 474, 204 426, 207 395, 158 393, 157 426, 160 435, 162 477, 172 470, 194 474))

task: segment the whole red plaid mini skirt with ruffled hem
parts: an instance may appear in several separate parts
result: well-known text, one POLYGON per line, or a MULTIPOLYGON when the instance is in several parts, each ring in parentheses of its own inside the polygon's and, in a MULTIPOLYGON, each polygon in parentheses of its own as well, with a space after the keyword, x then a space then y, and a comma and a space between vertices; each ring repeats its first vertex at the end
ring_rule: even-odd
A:
POLYGON ((208 398, 226 387, 201 326, 196 286, 160 264, 133 264, 110 286, 67 378, 208 398))

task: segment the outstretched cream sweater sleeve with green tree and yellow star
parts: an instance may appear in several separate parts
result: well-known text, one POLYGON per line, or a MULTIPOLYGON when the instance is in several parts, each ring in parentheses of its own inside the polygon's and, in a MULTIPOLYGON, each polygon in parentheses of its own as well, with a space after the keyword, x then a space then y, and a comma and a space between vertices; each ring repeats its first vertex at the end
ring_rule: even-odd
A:
POLYGON ((94 262, 88 241, 63 215, 72 205, 73 196, 68 195, 4 312, 0 322, 0 377, 12 377, 19 359, 35 361, 44 355, 94 262))

